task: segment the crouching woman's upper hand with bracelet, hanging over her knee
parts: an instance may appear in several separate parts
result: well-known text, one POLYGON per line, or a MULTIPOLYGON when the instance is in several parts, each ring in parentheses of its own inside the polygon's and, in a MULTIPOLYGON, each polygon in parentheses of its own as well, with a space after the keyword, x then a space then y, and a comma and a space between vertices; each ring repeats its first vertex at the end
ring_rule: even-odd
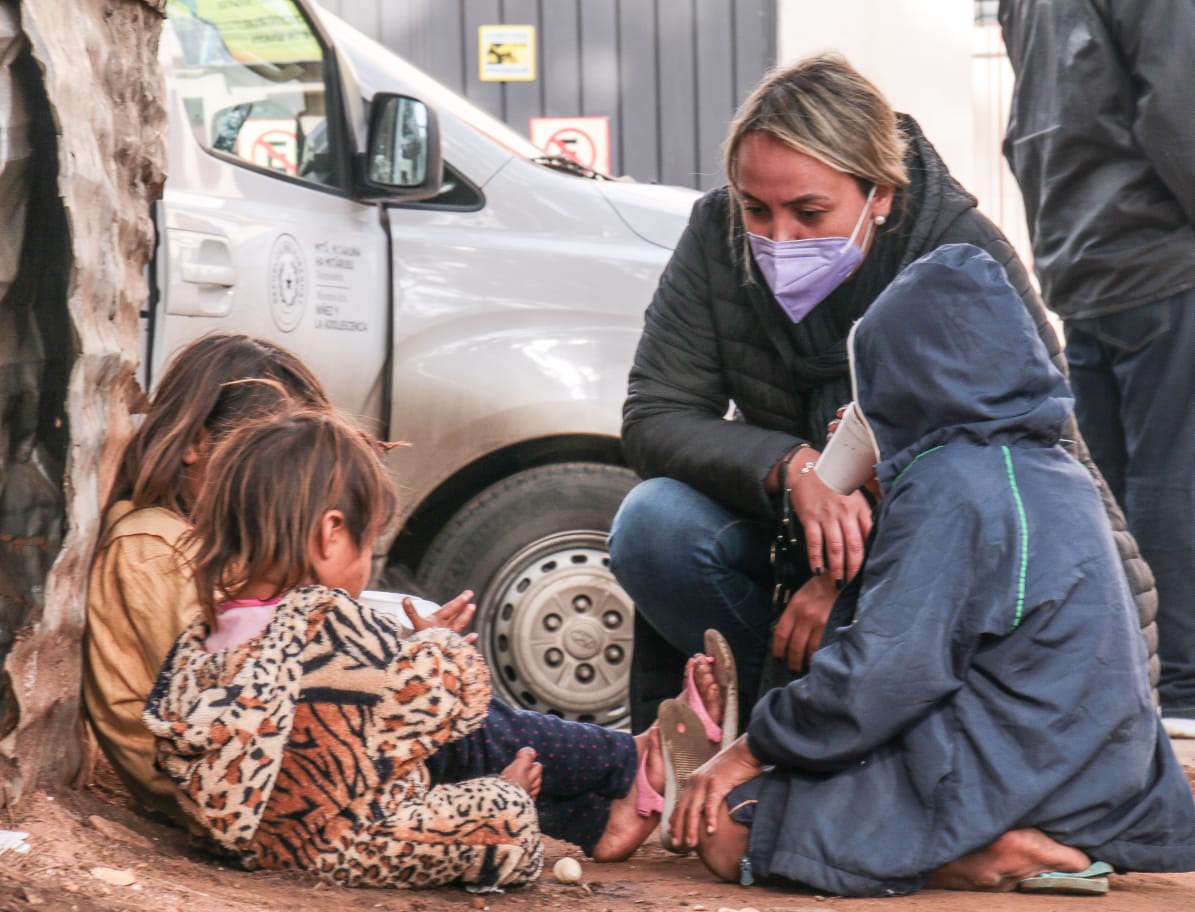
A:
POLYGON ((813 447, 801 451, 803 459, 789 464, 786 486, 792 492, 792 510, 801 520, 814 575, 828 573, 842 586, 863 564, 863 544, 871 532, 871 506, 856 491, 844 497, 822 484, 813 470, 820 453, 813 447))

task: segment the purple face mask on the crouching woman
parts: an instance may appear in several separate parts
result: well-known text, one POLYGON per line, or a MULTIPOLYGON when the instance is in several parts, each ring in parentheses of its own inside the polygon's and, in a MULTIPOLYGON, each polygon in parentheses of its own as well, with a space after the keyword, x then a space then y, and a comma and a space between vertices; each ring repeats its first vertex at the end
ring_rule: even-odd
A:
POLYGON ((859 233, 875 194, 872 186, 850 238, 772 240, 747 233, 764 281, 793 323, 801 323, 859 265, 863 249, 854 243, 854 235, 859 233))

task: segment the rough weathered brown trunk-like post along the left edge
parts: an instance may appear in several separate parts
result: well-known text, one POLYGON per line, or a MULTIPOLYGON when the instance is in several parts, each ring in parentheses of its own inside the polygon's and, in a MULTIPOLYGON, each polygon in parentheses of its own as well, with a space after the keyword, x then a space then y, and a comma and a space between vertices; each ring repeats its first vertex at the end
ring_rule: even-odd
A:
MULTIPOLYGON (((164 7, 19 2, 26 41, 13 72, 32 154, 20 267, 0 300, 0 804, 8 807, 37 785, 69 782, 81 757, 88 561, 130 404, 141 398, 137 314, 151 207, 165 177, 164 7)), ((10 115, 0 110, 0 136, 10 115)), ((0 209, 0 220, 14 210, 0 209)))

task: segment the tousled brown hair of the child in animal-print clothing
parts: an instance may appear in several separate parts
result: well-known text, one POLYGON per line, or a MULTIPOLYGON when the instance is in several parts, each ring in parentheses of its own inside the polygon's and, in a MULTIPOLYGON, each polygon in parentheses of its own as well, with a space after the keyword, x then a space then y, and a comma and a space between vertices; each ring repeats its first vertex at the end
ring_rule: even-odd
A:
POLYGON ((311 547, 327 510, 344 514, 356 545, 372 544, 397 506, 379 452, 330 409, 278 412, 228 434, 191 516, 209 625, 249 582, 269 581, 274 595, 313 582, 311 547))

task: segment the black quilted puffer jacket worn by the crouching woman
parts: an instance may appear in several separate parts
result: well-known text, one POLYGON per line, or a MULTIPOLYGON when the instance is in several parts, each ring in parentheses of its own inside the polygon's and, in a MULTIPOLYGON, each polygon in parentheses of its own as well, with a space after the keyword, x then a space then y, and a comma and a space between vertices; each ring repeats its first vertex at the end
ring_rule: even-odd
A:
MULTIPOLYGON (((1029 310, 1054 363, 1059 342, 1024 265, 975 208, 975 197, 909 117, 911 183, 859 271, 797 325, 743 256, 742 227, 725 188, 698 200, 645 314, 623 406, 623 452, 644 478, 675 478, 746 515, 772 516, 764 488, 772 466, 798 441, 819 446, 838 406, 851 398, 846 335, 896 274, 944 244, 974 244, 1000 263, 1029 310), (736 421, 725 416, 734 408, 736 421)), ((1073 418, 1073 452, 1098 477, 1073 418)), ((1153 577, 1099 479, 1150 655, 1157 651, 1153 577)), ((1157 660, 1151 659, 1157 680, 1157 660)))

